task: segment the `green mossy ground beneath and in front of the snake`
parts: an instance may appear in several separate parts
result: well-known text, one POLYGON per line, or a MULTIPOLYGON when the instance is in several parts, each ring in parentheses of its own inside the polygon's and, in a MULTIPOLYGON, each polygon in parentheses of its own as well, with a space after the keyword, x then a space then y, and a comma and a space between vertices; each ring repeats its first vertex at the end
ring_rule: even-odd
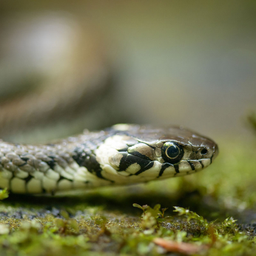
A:
POLYGON ((0 203, 0 255, 256 255, 256 145, 222 141, 215 163, 195 175, 82 195, 10 195, 0 203), (133 203, 152 208, 144 214, 133 203))

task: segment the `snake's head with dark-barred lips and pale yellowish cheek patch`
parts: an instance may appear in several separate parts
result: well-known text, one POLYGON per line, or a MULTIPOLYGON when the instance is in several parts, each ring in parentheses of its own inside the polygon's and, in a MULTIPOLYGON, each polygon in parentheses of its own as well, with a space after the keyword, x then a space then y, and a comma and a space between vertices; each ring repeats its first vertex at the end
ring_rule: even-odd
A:
POLYGON ((209 138, 182 127, 116 125, 96 151, 102 175, 135 183, 187 175, 206 168, 218 155, 209 138))

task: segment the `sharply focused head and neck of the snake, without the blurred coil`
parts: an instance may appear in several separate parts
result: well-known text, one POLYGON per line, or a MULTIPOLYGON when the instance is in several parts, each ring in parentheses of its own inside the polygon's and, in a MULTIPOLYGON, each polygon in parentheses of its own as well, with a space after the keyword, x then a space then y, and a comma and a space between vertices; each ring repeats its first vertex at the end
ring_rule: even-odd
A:
POLYGON ((189 129, 138 124, 84 130, 53 144, 0 141, 0 188, 55 195, 143 183, 198 172, 217 155, 214 141, 189 129))

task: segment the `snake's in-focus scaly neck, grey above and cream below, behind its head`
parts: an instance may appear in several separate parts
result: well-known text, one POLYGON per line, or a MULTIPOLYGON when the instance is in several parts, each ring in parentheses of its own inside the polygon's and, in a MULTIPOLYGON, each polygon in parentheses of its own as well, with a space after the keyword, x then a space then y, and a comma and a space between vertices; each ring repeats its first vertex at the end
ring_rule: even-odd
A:
POLYGON ((56 144, 0 142, 0 187, 14 193, 52 193, 110 183, 101 176, 95 149, 103 132, 85 132, 56 144))

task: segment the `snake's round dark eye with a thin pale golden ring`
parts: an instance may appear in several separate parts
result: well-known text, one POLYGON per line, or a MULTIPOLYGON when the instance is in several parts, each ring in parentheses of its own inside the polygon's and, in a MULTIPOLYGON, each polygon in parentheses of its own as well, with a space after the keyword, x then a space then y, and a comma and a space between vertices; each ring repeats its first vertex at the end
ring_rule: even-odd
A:
POLYGON ((162 156, 164 160, 169 162, 170 164, 178 163, 178 161, 181 160, 183 155, 184 151, 182 147, 173 141, 167 141, 162 146, 162 156))

